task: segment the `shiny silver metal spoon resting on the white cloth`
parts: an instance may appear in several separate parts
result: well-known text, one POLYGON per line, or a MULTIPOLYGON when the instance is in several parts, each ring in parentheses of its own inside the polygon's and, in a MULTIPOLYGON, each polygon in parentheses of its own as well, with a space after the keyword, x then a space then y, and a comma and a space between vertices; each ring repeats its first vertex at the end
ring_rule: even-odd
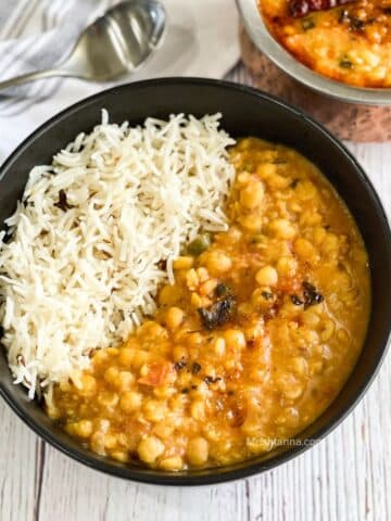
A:
POLYGON ((68 58, 55 68, 0 81, 0 89, 51 76, 110 81, 133 73, 156 49, 165 21, 165 10, 155 0, 118 3, 81 33, 68 58))

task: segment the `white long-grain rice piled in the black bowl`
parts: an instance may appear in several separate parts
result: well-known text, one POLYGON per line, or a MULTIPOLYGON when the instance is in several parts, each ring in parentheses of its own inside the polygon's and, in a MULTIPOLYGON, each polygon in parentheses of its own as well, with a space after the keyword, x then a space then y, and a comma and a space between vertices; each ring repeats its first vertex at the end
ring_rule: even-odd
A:
POLYGON ((234 140, 219 117, 129 128, 102 111, 91 134, 33 168, 0 251, 2 342, 30 398, 37 382, 60 382, 91 350, 125 340, 154 313, 157 287, 174 281, 184 244, 226 229, 234 140))

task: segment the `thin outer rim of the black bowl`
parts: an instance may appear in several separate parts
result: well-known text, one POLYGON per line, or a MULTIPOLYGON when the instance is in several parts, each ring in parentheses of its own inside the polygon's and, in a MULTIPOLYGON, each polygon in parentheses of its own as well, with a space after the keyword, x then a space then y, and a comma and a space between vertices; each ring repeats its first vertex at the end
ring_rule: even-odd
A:
MULTIPOLYGON (((67 109, 61 111, 60 113, 55 114, 53 117, 48 119, 43 123, 40 127, 38 127, 33 134, 30 134, 12 153, 11 155, 4 161, 4 163, 0 166, 0 179, 2 178, 3 170, 7 170, 9 166, 17 160, 18 155, 26 150, 31 142, 39 136, 42 131, 46 131, 50 128, 53 124, 58 124, 61 119, 75 111, 79 111, 83 107, 88 106, 90 103, 94 103, 100 98, 104 98, 108 93, 114 91, 121 91, 122 89, 131 89, 136 88, 139 89, 140 87, 149 87, 154 86, 159 87, 160 85, 169 86, 169 85, 191 85, 191 86, 207 86, 207 87, 218 87, 228 90, 236 90, 239 92, 243 92, 254 98, 263 98, 266 101, 275 103, 287 112, 293 112, 298 117, 304 119, 310 126, 312 126, 316 131, 320 132, 325 139, 330 140, 335 147, 339 149, 341 154, 343 154, 348 160, 353 164, 357 176, 366 185, 367 190, 370 192, 371 200, 374 205, 376 206, 379 215, 384 225, 384 229, 387 230, 387 249, 390 254, 391 258, 391 229, 389 225, 388 217, 383 209, 382 203, 380 201, 379 195, 377 194, 370 179, 365 174, 364 169, 361 167, 360 163, 355 160, 353 154, 336 138, 333 137, 323 125, 317 123, 312 117, 307 116, 303 111, 297 109, 295 106, 287 103, 279 98, 265 93, 261 90, 255 88, 235 84, 231 81, 220 80, 220 79, 206 79, 206 78, 198 78, 198 77, 167 77, 167 78, 157 78, 157 79, 147 79, 142 81, 134 81, 129 84, 123 84, 117 87, 113 87, 110 89, 105 89, 97 94, 88 97, 67 109)), ((147 116, 146 116, 147 117, 147 116)), ((23 410, 18 407, 16 401, 14 399, 12 393, 8 392, 0 381, 0 395, 2 398, 8 403, 8 405, 13 409, 13 411, 39 436, 41 436, 46 442, 52 445, 54 448, 59 449, 66 456, 71 457, 72 459, 84 463, 85 466, 103 472, 105 474, 110 474, 116 478, 122 478, 128 481, 140 482, 144 484, 151 485, 177 485, 177 486, 193 486, 193 485, 211 485, 211 484, 218 484, 218 483, 226 483, 235 480, 240 480, 244 478, 249 478, 254 474, 258 474, 266 470, 272 470, 285 462, 290 461, 295 456, 303 454, 305 450, 314 446, 316 443, 320 442, 327 434, 332 432, 354 409, 354 407, 358 404, 358 402, 363 398, 364 394, 373 383, 375 377, 377 376, 382 361, 384 360, 388 344, 390 340, 390 328, 391 328, 391 308, 390 308, 390 327, 387 332, 384 332, 382 339, 382 348, 379 352, 376 360, 376 367, 374 371, 366 376, 363 380, 363 383, 356 394, 352 398, 348 401, 348 405, 344 409, 337 415, 332 423, 325 425, 324 428, 319 429, 315 433, 315 435, 311 439, 311 444, 300 444, 290 447, 289 450, 282 452, 281 454, 277 454, 275 457, 272 457, 266 460, 262 461, 253 461, 252 459, 248 460, 244 463, 240 462, 237 465, 231 465, 228 467, 216 467, 213 469, 203 469, 203 470, 191 470, 190 472, 163 472, 156 471, 153 469, 146 469, 130 466, 122 466, 112 461, 108 458, 100 457, 92 452, 84 452, 80 448, 74 448, 74 446, 67 446, 65 443, 59 441, 58 436, 51 431, 51 429, 42 425, 41 423, 34 420, 31 417, 24 416, 23 410), (215 471, 215 472, 214 472, 215 471)), ((360 359, 360 358, 358 358, 360 359)), ((10 374, 11 378, 11 374, 10 374)), ((337 397, 335 398, 337 399, 337 397)), ((327 409, 326 409, 327 410, 327 409)), ((311 427, 311 425, 310 425, 311 427)), ((305 432, 305 431, 304 431, 305 432)), ((298 436, 300 433, 298 434, 298 436)), ((270 454, 270 453, 269 453, 270 454)))

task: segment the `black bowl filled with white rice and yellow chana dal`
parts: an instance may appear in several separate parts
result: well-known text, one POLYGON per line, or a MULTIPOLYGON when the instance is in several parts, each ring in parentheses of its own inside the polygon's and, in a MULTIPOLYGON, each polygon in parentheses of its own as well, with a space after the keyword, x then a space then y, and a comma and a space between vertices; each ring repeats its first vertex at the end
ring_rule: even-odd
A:
POLYGON ((76 461, 155 484, 249 476, 321 440, 376 376, 391 327, 388 219, 350 152, 292 106, 225 81, 124 85, 54 116, 1 174, 0 392, 76 461), (29 174, 37 165, 50 166, 29 174), (11 268, 36 214, 40 253, 11 268), (138 237, 129 250, 126 229, 138 237), (143 244, 147 232, 153 241, 143 244), (81 242, 77 255, 72 241, 81 242), (47 252, 62 270, 48 289, 47 252), (35 262, 33 271, 47 274, 40 292, 35 262), (133 304, 141 291, 148 296, 133 304), (64 338, 50 332, 88 298, 87 321, 72 318, 64 338), (61 306, 51 315, 48 302, 61 306), (23 346, 14 323, 29 335, 23 346))

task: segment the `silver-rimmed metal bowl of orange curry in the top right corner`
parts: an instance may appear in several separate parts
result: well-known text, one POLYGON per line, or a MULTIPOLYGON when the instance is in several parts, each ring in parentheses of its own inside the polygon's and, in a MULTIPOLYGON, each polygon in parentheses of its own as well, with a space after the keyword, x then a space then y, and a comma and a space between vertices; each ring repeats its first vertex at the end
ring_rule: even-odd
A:
POLYGON ((386 0, 238 0, 255 46, 306 87, 341 101, 391 103, 386 0))

